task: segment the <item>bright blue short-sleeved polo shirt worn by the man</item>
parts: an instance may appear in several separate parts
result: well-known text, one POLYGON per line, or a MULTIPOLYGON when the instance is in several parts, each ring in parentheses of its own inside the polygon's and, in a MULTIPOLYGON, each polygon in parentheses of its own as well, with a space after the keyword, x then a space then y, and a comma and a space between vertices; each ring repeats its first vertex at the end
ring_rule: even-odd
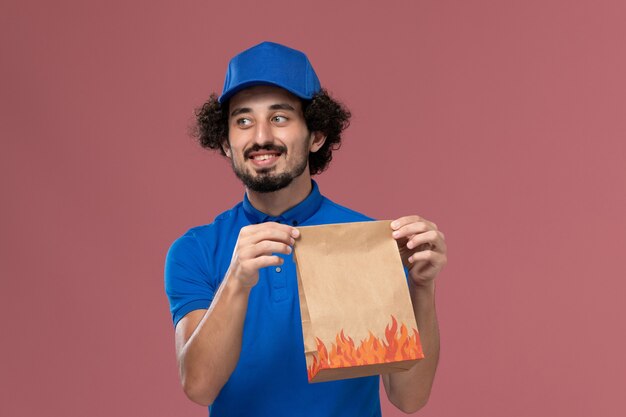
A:
MULTIPOLYGON (((366 220, 371 219, 322 196, 314 181, 309 196, 278 217, 255 209, 246 195, 213 223, 190 229, 170 247, 165 290, 174 325, 190 311, 209 307, 242 227, 269 221, 313 226, 366 220)), ((209 406, 211 417, 380 416, 378 376, 309 384, 296 267, 291 255, 283 258, 280 267, 259 270, 239 362, 209 406)))

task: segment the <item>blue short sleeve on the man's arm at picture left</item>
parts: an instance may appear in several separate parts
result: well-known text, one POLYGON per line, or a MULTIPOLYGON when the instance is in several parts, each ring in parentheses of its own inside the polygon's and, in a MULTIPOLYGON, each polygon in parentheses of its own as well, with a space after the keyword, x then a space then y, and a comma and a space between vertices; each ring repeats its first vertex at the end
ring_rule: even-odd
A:
POLYGON ((215 296, 206 258, 193 233, 178 238, 165 258, 165 293, 174 327, 187 313, 207 309, 215 296))

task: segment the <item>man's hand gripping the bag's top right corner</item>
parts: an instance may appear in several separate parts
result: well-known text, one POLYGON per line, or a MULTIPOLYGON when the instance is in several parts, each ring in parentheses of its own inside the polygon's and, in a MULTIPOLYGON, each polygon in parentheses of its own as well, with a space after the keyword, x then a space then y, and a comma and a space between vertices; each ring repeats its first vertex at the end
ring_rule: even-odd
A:
POLYGON ((404 266, 417 286, 433 283, 448 262, 447 246, 437 225, 419 216, 400 217, 391 222, 404 266))

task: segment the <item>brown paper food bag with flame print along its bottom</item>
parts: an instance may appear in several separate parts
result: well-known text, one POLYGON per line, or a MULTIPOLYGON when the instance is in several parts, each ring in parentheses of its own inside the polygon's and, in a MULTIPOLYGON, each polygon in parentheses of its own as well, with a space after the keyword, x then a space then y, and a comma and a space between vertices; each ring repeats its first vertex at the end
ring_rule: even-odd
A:
POLYGON ((299 227, 309 382, 404 371, 424 357, 390 221, 299 227))

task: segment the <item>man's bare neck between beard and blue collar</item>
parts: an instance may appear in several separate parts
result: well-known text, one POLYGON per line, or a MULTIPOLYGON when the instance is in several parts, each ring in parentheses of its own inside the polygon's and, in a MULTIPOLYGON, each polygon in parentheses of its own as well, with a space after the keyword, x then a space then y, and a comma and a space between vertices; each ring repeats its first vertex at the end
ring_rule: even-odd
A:
POLYGON ((287 187, 271 193, 246 189, 248 200, 257 210, 276 217, 302 202, 311 192, 311 174, 308 169, 287 187))

